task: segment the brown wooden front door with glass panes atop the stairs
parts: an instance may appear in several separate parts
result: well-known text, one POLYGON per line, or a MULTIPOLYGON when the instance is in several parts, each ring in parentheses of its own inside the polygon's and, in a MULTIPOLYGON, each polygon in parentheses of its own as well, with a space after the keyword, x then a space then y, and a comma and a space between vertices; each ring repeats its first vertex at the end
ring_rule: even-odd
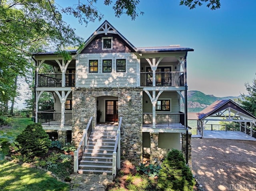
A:
POLYGON ((118 121, 118 100, 106 100, 106 121, 118 121))

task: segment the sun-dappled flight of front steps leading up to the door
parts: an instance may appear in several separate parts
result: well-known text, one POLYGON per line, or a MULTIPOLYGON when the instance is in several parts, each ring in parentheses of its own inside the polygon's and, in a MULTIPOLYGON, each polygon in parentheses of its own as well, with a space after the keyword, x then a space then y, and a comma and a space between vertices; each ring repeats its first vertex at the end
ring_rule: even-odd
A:
POLYGON ((112 154, 117 129, 117 123, 97 124, 88 139, 78 173, 112 175, 112 154))

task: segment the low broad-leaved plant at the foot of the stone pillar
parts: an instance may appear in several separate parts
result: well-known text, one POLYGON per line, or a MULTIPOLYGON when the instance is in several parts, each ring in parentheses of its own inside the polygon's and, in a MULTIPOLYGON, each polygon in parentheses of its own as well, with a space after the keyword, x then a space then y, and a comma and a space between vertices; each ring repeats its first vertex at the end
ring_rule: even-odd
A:
POLYGON ((149 177, 158 176, 160 169, 161 169, 160 165, 153 165, 153 164, 149 164, 149 165, 139 164, 138 166, 136 166, 136 171, 142 174, 146 174, 149 177))

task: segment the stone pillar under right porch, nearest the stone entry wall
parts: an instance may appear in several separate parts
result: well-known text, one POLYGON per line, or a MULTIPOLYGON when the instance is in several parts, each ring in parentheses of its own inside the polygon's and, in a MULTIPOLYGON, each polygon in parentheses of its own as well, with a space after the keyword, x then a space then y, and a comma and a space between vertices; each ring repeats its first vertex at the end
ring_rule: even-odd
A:
POLYGON ((154 164, 159 161, 158 156, 158 133, 150 133, 150 163, 154 164))

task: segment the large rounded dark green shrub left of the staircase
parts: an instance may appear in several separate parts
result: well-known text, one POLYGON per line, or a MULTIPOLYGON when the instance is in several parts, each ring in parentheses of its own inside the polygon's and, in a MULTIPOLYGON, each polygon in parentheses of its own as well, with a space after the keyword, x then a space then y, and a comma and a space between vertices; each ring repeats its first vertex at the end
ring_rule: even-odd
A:
POLYGON ((20 144, 21 154, 30 158, 43 156, 48 152, 48 148, 51 145, 48 134, 43 130, 42 125, 38 123, 28 125, 17 136, 16 141, 20 144))

